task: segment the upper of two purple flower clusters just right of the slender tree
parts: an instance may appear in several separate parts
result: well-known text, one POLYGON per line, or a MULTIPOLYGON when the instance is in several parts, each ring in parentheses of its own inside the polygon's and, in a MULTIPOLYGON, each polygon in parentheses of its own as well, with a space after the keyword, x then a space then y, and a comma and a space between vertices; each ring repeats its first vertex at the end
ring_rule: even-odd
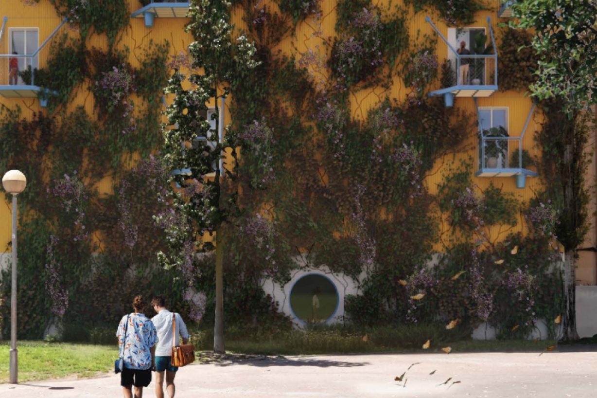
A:
POLYGON ((270 183, 276 179, 272 167, 272 155, 270 145, 275 143, 273 138, 273 128, 267 127, 265 118, 261 122, 254 120, 253 124, 245 125, 245 128, 239 134, 257 158, 259 172, 261 173, 261 182, 270 183))

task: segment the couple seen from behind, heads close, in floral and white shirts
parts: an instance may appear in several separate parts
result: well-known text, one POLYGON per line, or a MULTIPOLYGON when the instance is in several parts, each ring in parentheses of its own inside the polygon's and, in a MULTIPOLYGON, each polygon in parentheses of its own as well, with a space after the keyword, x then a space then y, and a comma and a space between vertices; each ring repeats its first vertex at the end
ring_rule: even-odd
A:
POLYGON ((168 396, 174 398, 174 376, 179 368, 170 363, 171 350, 173 345, 179 345, 179 333, 183 344, 186 344, 189 332, 180 314, 166 309, 164 296, 155 296, 151 304, 158 314, 150 320, 143 314, 147 303, 142 296, 137 296, 133 301, 134 313, 122 317, 116 331, 119 352, 124 358, 120 383, 124 398, 133 398, 133 385, 134 397, 141 398, 143 387, 151 382, 152 371, 156 372, 156 397, 164 398, 165 376, 168 396), (176 336, 173 326, 176 327, 176 336))

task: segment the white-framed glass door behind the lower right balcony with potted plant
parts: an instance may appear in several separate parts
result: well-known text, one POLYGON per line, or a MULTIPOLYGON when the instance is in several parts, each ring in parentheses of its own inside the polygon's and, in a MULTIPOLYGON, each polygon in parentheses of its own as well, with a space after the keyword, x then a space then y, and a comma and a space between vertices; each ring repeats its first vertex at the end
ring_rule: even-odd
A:
POLYGON ((508 109, 479 108, 479 164, 482 169, 508 167, 508 109), (503 139, 500 139, 503 137, 503 139), (483 156, 484 155, 484 156, 483 156))

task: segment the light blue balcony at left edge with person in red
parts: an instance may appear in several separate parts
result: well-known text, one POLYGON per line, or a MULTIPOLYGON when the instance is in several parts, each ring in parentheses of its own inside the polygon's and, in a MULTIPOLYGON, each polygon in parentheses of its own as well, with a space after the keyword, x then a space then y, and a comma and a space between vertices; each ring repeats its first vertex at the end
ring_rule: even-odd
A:
MULTIPOLYGON (((0 29, 0 42, 4 39, 5 26, 8 21, 4 17, 2 28, 0 29)), ((39 57, 47 57, 45 46, 56 35, 60 28, 66 23, 63 19, 60 25, 54 29, 54 32, 48 36, 44 42, 30 54, 0 54, 0 96, 5 98, 39 98, 39 106, 45 108, 48 105, 48 94, 51 91, 44 87, 36 85, 35 75, 39 67, 39 57), (20 73, 29 72, 27 78, 11 71, 11 63, 16 62, 18 68, 14 68, 20 73)))

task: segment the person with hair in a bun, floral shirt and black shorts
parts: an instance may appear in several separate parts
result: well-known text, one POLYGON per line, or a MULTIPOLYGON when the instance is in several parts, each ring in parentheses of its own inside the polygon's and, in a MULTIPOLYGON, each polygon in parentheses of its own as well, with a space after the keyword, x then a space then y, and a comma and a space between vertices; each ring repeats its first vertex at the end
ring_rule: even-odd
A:
POLYGON ((143 314, 146 307, 143 297, 136 296, 133 300, 134 313, 122 317, 116 330, 118 345, 124 358, 124 369, 120 373, 124 398, 133 398, 133 385, 135 398, 141 398, 143 387, 151 382, 157 332, 153 322, 143 314))

